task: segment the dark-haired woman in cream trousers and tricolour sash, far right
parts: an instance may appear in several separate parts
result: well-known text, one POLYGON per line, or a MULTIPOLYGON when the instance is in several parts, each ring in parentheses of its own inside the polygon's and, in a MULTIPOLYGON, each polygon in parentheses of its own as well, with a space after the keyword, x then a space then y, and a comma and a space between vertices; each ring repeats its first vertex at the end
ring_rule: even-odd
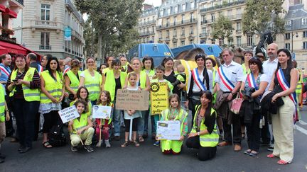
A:
POLYGON ((277 51, 278 64, 275 74, 271 80, 270 91, 276 93, 271 98, 271 103, 275 103, 277 98, 284 101, 277 110, 277 114, 272 114, 272 130, 275 143, 274 151, 267 157, 279 157, 277 164, 285 165, 292 162, 293 159, 293 120, 296 120, 296 85, 298 83, 298 74, 293 68, 291 53, 287 49, 277 51), (294 115, 294 117, 293 117, 294 115))

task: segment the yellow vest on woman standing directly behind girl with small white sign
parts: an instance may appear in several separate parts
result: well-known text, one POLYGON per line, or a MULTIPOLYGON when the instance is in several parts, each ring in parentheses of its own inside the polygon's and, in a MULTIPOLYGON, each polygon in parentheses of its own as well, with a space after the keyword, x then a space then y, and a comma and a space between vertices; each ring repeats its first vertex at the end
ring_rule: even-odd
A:
POLYGON ((95 79, 93 79, 88 69, 83 72, 85 74, 85 87, 90 93, 89 98, 91 101, 97 101, 99 99, 100 86, 102 84, 102 75, 95 71, 95 79))

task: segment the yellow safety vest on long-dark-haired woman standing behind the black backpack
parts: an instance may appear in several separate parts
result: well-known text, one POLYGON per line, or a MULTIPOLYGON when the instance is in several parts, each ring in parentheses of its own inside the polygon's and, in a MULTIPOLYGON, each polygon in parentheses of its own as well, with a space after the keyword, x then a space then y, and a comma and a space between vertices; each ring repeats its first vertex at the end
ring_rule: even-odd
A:
MULTIPOLYGON (((51 96, 59 100, 60 96, 62 96, 63 89, 63 78, 61 77, 62 74, 60 74, 58 71, 56 72, 56 81, 53 79, 53 77, 50 76, 49 71, 43 71, 41 76, 45 81, 45 89, 48 91, 48 93, 50 93, 51 96)), ((41 92, 41 103, 52 103, 52 101, 50 98, 45 96, 45 93, 41 92)))

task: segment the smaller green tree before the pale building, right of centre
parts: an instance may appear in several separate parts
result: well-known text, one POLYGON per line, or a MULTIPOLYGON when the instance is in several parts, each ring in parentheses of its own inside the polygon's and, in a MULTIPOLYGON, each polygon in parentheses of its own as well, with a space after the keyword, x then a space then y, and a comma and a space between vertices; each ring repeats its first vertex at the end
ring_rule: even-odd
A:
MULTIPOLYGON (((219 18, 217 18, 217 21, 213 23, 212 25, 212 36, 213 39, 219 39, 224 42, 225 38, 228 41, 228 44, 232 41, 232 21, 230 21, 229 18, 220 15, 219 18)), ((225 46, 225 45, 224 45, 225 46)))

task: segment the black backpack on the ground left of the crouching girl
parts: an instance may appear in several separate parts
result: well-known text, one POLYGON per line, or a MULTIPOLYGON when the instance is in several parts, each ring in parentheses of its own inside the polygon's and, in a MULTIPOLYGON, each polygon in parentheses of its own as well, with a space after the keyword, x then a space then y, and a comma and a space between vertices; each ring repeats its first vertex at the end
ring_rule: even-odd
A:
POLYGON ((48 133, 48 142, 53 147, 63 147, 66 144, 66 136, 63 132, 63 125, 54 125, 48 133))

